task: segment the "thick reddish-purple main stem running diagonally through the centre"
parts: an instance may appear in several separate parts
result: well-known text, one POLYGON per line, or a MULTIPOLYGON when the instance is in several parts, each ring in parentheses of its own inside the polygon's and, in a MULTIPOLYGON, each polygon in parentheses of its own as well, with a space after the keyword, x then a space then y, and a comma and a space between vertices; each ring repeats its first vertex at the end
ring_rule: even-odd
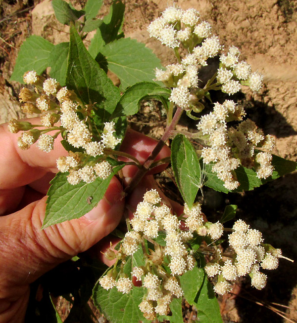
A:
POLYGON ((151 164, 156 159, 157 155, 159 154, 159 152, 161 151, 161 149, 165 145, 166 141, 171 136, 172 131, 175 129, 178 121, 180 120, 182 113, 183 113, 183 110, 180 107, 177 107, 177 110, 176 110, 175 115, 172 119, 172 122, 169 125, 167 125, 161 139, 159 140, 159 142, 157 143, 157 145, 155 146, 153 151, 150 153, 147 160, 144 162, 142 168, 140 168, 138 170, 138 172, 134 176, 131 184, 126 187, 126 189, 124 191, 125 195, 130 194, 135 189, 135 187, 138 185, 138 183, 141 181, 141 179, 146 175, 146 173, 150 169, 151 164))

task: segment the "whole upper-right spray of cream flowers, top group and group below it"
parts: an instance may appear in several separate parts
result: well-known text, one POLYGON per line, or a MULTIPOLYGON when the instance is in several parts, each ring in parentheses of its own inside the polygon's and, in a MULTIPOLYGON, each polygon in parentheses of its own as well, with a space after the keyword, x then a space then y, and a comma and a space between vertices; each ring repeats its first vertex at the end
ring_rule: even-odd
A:
MULTIPOLYGON (((200 99, 209 96, 209 90, 221 90, 229 95, 240 91, 247 85, 253 92, 262 87, 263 76, 251 72, 247 62, 240 60, 240 50, 230 46, 227 54, 220 54, 223 46, 212 35, 211 26, 201 21, 195 9, 182 10, 167 8, 161 17, 151 22, 148 27, 151 37, 173 48, 178 59, 177 64, 166 66, 165 70, 156 69, 156 81, 162 81, 172 89, 169 100, 187 111, 200 113, 204 105, 200 99), (184 47, 187 54, 183 57, 179 49, 184 47), (219 68, 203 84, 199 80, 199 68, 207 65, 207 59, 219 56, 219 68)), ((224 182, 228 190, 236 189, 240 183, 235 169, 239 165, 254 167, 257 177, 266 179, 273 172, 271 151, 274 139, 265 136, 256 124, 247 119, 243 107, 233 100, 216 102, 213 111, 200 117, 199 133, 196 135, 204 141, 205 147, 200 152, 204 163, 214 163, 212 170, 224 182), (227 127, 227 122, 242 121, 237 126, 227 127)))

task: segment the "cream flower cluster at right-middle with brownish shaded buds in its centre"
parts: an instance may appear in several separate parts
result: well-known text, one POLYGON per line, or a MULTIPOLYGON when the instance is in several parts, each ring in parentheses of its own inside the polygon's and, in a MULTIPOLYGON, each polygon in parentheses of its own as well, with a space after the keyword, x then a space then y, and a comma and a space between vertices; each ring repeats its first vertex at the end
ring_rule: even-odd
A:
POLYGON ((237 128, 227 128, 227 121, 242 120, 245 115, 242 107, 232 100, 226 100, 223 104, 215 103, 213 111, 202 116, 197 125, 209 146, 202 149, 203 161, 215 162, 212 170, 224 181, 228 190, 239 186, 234 170, 240 164, 249 168, 255 166, 259 178, 267 178, 273 171, 270 153, 260 152, 255 158, 255 148, 268 151, 274 148, 271 136, 264 136, 262 130, 249 119, 242 121, 237 128))

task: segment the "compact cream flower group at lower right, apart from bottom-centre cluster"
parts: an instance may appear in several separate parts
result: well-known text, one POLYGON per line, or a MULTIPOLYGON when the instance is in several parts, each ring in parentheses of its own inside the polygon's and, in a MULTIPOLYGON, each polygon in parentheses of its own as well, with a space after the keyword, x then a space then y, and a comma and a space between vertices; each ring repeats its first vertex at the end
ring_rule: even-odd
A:
POLYGON ((232 289, 232 282, 247 274, 251 278, 252 286, 257 289, 264 288, 267 276, 260 272, 260 267, 276 269, 281 250, 264 244, 261 232, 250 229, 243 220, 235 222, 228 240, 235 251, 233 260, 223 261, 221 257, 216 258, 204 268, 208 277, 218 275, 214 290, 223 295, 232 289))

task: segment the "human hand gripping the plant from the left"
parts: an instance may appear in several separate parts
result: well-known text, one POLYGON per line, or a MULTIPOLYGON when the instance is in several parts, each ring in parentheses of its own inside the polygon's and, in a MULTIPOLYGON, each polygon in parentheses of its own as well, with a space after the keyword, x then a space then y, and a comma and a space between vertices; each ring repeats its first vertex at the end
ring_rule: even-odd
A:
MULTIPOLYGON (((23 151, 17 147, 17 138, 7 130, 7 124, 0 125, 1 323, 23 322, 30 283, 107 236, 119 223, 125 207, 122 185, 114 177, 104 198, 86 215, 41 230, 45 195, 57 172, 56 159, 67 153, 58 141, 50 153, 36 145, 23 151)), ((144 162, 155 144, 151 138, 128 131, 122 149, 144 162)), ((164 147, 157 159, 169 154, 169 148, 164 147)), ((127 182, 135 172, 131 166, 123 168, 127 182)), ((138 191, 145 191, 146 185, 153 185, 151 178, 145 179, 138 191)), ((137 196, 128 199, 130 210, 139 202, 137 196)))

